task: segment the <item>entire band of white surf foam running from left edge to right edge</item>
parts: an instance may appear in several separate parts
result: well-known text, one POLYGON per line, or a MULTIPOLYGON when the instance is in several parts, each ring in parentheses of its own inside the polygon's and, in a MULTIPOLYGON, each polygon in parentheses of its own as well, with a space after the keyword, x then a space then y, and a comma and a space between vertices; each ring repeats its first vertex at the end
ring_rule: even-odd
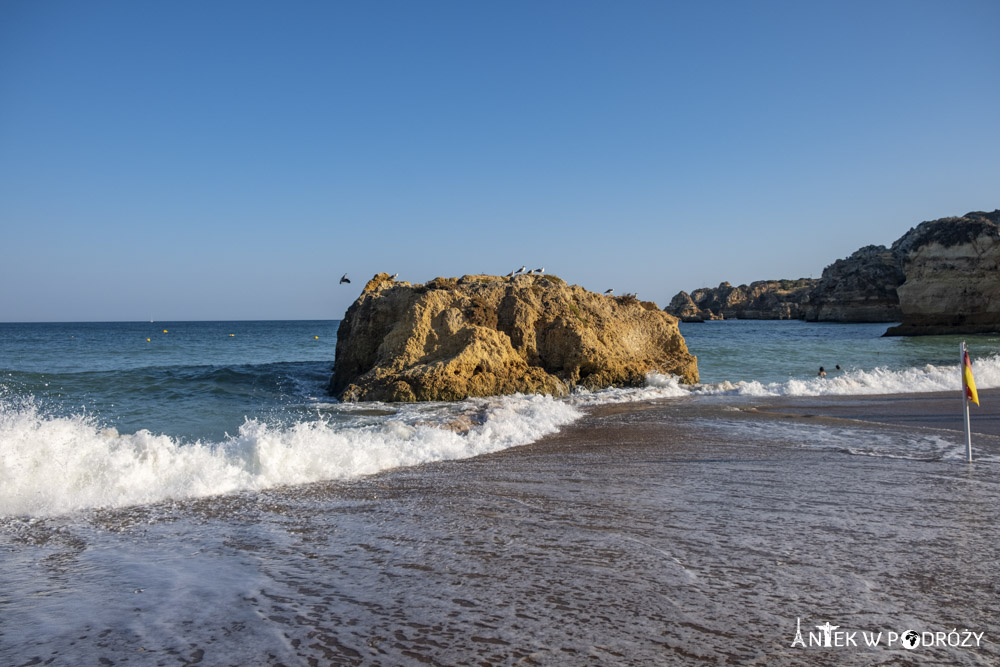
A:
MULTIPOLYGON (((976 359, 979 388, 1000 386, 1000 355, 976 359)), ((55 515, 283 484, 347 479, 389 468, 477 456, 526 444, 576 419, 579 407, 702 396, 824 396, 958 391, 956 366, 848 370, 786 382, 682 385, 652 374, 647 386, 581 391, 568 400, 512 396, 460 404, 322 406, 285 426, 248 419, 219 442, 183 443, 147 430, 119 434, 93 417, 56 417, 31 400, 0 397, 0 515, 55 515), (458 406, 456 409, 456 405, 458 406), (381 412, 379 413, 379 408, 381 412), (374 413, 358 419, 354 412, 374 413), (474 413, 458 433, 440 425, 474 413), (344 417, 350 416, 345 421, 344 417)))

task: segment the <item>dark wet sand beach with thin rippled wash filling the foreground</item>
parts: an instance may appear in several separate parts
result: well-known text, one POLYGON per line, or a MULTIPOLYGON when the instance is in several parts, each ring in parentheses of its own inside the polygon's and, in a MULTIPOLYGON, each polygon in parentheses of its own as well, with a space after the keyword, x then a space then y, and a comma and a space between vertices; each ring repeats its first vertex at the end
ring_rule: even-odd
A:
POLYGON ((1000 465, 813 446, 919 442, 946 402, 605 406, 476 459, 7 524, 0 661, 997 664, 1000 465), (793 645, 827 623, 860 645, 793 645), (888 644, 953 629, 985 634, 888 644))

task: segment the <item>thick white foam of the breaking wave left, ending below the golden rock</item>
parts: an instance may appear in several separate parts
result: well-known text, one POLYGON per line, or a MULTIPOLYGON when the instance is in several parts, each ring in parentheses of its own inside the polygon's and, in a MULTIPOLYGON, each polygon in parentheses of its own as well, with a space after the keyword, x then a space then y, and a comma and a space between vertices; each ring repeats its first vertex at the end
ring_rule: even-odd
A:
POLYGON ((32 400, 0 399, 0 515, 51 516, 353 478, 525 444, 580 415, 544 396, 464 405, 477 415, 465 433, 413 412, 360 427, 322 417, 289 426, 248 419, 224 441, 181 443, 147 430, 119 434, 88 416, 47 415, 32 400))

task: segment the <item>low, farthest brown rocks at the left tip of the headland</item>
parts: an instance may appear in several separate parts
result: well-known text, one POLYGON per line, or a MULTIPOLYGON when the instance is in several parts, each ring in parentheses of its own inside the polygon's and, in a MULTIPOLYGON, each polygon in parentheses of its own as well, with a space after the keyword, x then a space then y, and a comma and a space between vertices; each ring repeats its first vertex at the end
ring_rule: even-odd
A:
POLYGON ((718 287, 680 292, 666 311, 686 322, 704 320, 798 320, 805 316, 809 296, 819 281, 758 280, 733 287, 724 282, 718 287))

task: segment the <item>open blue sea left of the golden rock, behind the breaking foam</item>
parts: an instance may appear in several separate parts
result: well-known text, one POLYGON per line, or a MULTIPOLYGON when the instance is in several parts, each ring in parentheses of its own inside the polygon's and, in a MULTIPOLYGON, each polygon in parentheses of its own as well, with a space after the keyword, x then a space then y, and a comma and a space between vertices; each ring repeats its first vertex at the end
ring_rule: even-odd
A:
POLYGON ((325 400, 337 320, 0 324, 0 386, 123 433, 219 439, 325 400))

